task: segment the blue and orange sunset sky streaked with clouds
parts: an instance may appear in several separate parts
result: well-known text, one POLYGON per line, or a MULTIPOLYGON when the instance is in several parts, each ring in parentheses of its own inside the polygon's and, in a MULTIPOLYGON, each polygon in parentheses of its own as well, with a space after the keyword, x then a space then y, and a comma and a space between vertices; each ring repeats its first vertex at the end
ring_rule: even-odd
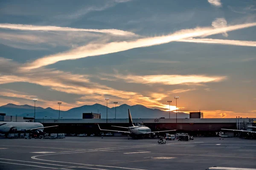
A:
POLYGON ((179 96, 177 111, 255 118, 255 32, 255 0, 1 0, 0 105, 179 96))

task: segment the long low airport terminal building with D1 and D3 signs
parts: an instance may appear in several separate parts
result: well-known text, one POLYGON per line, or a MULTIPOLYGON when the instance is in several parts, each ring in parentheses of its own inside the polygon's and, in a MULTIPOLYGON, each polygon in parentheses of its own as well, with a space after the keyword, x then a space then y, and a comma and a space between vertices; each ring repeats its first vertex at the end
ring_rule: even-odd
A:
MULTIPOLYGON (((112 125, 128 127, 129 119, 37 119, 36 122, 41 122, 44 126, 59 125, 60 133, 90 134, 100 133, 97 124, 102 129, 122 130, 112 125)), ((151 128, 151 131, 176 129, 174 133, 211 135, 220 132, 221 128, 253 131, 255 129, 248 126, 256 126, 256 118, 203 119, 202 114, 193 112, 188 119, 133 119, 133 123, 146 125, 151 128)))

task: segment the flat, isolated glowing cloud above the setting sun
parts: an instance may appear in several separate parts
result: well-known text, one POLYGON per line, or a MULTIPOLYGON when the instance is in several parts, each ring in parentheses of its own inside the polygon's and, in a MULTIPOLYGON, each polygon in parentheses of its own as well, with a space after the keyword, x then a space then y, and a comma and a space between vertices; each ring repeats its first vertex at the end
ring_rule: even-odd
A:
POLYGON ((121 75, 121 74, 102 74, 100 79, 119 81, 119 79, 125 80, 129 83, 140 84, 162 84, 162 85, 179 85, 179 84, 194 84, 207 82, 220 82, 226 79, 226 76, 206 76, 206 75, 121 75), (108 77, 112 77, 112 79, 108 77))

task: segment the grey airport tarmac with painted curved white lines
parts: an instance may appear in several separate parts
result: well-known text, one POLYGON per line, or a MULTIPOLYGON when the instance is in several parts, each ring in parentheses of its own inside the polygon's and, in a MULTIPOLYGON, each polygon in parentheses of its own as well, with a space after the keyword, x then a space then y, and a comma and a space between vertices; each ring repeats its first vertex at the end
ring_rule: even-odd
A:
POLYGON ((0 170, 256 170, 256 140, 239 138, 0 138, 0 153, 0 170))

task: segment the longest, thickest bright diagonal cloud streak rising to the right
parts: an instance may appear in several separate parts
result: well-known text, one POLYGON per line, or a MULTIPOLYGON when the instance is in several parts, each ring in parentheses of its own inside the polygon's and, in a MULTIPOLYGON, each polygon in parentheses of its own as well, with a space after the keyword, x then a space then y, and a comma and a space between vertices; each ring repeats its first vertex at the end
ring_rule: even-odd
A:
POLYGON ((63 53, 49 55, 40 59, 36 59, 32 63, 24 65, 24 69, 39 68, 46 65, 51 65, 59 61, 68 59, 79 59, 89 56, 97 56, 103 54, 116 53, 119 51, 126 51, 132 48, 148 47, 152 45, 160 45, 172 41, 192 38, 192 37, 207 37, 213 34, 220 34, 227 31, 238 30, 242 28, 248 28, 256 26, 256 23, 247 23, 234 26, 227 26, 224 28, 194 28, 185 29, 177 31, 173 34, 169 34, 161 37, 147 37, 132 41, 122 41, 122 42, 110 42, 110 43, 98 43, 98 44, 88 44, 75 48, 70 51, 63 53))

